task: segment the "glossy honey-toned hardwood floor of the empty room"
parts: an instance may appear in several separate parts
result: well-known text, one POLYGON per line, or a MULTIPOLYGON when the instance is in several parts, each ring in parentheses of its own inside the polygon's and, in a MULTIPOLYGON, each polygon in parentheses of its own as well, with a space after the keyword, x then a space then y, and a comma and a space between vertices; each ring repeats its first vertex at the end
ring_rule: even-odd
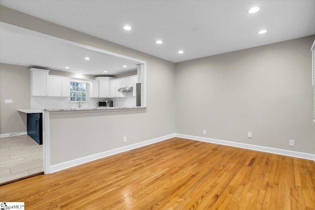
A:
POLYGON ((172 138, 0 187, 27 210, 314 210, 315 162, 172 138))

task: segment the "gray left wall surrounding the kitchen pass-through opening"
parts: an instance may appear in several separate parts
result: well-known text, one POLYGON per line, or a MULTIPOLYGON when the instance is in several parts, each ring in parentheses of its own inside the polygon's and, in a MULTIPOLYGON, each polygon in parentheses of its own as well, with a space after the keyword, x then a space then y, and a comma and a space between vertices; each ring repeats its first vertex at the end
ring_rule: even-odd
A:
POLYGON ((51 164, 175 132, 175 64, 0 7, 2 22, 147 61, 147 110, 50 116, 51 164), (165 105, 166 104, 166 105, 165 105), (126 124, 126 127, 122 127, 126 124), (127 143, 123 144, 123 136, 127 143))

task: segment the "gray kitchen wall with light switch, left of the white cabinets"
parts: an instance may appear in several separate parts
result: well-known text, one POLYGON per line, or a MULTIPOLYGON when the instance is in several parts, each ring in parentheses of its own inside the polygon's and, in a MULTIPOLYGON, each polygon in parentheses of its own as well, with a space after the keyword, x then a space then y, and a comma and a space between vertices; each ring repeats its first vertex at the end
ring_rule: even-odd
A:
POLYGON ((30 75, 29 67, 0 63, 0 134, 27 131, 26 114, 17 109, 30 109, 30 75))

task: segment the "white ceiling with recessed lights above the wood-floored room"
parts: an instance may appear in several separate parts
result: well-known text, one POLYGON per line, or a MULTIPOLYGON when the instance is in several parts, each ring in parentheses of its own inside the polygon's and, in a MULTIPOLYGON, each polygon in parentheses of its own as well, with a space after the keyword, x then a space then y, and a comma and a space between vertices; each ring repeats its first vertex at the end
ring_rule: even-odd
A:
POLYGON ((0 4, 172 62, 315 34, 315 0, 1 0, 0 4), (253 6, 260 10, 246 13, 253 6), (123 30, 123 25, 132 30, 123 30), (268 32, 257 34, 261 29, 268 32), (156 44, 157 39, 163 43, 156 44), (179 50, 184 53, 178 54, 179 50))

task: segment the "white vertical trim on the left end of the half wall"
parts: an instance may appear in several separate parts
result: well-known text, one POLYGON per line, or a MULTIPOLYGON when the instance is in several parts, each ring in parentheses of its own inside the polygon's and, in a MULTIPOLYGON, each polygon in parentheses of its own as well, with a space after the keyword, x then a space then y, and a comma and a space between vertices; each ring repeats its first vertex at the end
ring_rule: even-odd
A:
POLYGON ((49 111, 45 111, 43 117, 43 170, 49 174, 50 168, 50 138, 49 138, 49 111))

